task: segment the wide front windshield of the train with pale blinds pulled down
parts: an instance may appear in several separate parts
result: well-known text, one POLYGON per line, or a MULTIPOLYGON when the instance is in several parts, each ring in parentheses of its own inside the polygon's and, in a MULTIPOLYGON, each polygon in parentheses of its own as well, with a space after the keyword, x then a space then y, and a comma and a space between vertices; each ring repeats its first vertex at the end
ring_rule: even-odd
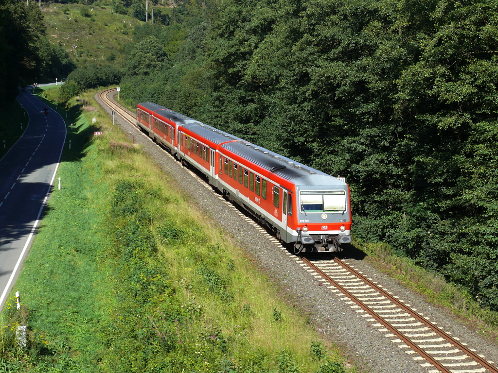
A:
POLYGON ((345 190, 301 190, 301 212, 346 211, 345 190))

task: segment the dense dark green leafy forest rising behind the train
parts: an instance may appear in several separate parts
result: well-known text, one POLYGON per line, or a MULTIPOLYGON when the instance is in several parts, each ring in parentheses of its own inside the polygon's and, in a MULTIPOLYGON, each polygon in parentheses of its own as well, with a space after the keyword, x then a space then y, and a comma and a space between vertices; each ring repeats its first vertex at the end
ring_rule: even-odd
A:
MULTIPOLYGON (((143 18, 144 3, 110 5, 143 18)), ((386 242, 498 310, 497 0, 170 7, 134 28, 124 67, 75 70, 63 100, 121 79, 130 104, 157 102, 345 176, 358 240, 386 242)), ((12 61, 19 74, 40 66, 30 48, 43 32, 30 24, 19 26, 27 52, 0 61, 2 74, 12 61)), ((0 32, 2 43, 16 31, 0 32)))

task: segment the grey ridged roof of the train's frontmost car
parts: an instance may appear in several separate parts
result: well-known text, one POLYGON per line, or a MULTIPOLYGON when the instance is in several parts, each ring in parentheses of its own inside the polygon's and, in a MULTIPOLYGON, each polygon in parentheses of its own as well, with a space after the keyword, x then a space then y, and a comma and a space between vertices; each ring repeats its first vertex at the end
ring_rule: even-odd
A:
POLYGON ((296 185, 346 186, 333 176, 247 142, 229 142, 221 147, 296 185))

